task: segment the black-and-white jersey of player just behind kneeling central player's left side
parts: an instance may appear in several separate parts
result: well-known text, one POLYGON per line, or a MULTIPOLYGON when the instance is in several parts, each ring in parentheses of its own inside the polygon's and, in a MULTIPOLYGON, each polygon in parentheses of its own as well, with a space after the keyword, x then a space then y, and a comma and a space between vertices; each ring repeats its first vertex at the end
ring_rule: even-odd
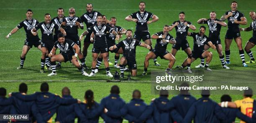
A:
MULTIPOLYGON (((114 27, 110 26, 110 28, 115 30, 115 32, 121 32, 123 30, 123 28, 121 28, 120 26, 116 26, 116 25, 114 27)), ((107 33, 106 38, 107 38, 108 46, 115 45, 115 35, 113 33, 107 33)))

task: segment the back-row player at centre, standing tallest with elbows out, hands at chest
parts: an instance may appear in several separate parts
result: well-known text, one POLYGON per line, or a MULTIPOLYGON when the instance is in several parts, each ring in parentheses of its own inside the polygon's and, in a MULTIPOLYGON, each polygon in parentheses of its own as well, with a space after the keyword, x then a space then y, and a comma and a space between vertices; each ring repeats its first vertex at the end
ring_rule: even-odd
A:
MULTIPOLYGON (((151 46, 152 41, 150 38, 150 33, 148 31, 148 24, 156 22, 157 20, 159 20, 159 18, 156 15, 146 11, 145 8, 146 8, 146 3, 140 2, 139 3, 140 10, 135 13, 132 13, 131 15, 128 15, 125 18, 125 20, 133 21, 136 23, 136 30, 134 32, 133 38, 138 41, 141 41, 142 39, 146 44, 151 46), (149 20, 149 18, 152 18, 153 20, 149 20)), ((154 63, 156 66, 160 66, 156 58, 154 59, 154 63)))

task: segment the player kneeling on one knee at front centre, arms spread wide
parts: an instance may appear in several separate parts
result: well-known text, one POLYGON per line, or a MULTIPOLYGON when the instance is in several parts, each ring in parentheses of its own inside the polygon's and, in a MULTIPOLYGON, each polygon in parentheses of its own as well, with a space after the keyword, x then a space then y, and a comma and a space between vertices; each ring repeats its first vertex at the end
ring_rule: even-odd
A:
POLYGON ((133 31, 127 30, 126 31, 126 39, 120 41, 118 44, 113 45, 109 48, 109 50, 115 50, 116 48, 123 49, 123 57, 120 59, 120 71, 121 75, 120 78, 124 77, 123 71, 125 65, 128 65, 129 70, 131 70, 131 75, 137 75, 137 64, 136 64, 136 46, 141 46, 148 48, 151 50, 151 46, 146 43, 141 43, 140 41, 133 39, 133 31))

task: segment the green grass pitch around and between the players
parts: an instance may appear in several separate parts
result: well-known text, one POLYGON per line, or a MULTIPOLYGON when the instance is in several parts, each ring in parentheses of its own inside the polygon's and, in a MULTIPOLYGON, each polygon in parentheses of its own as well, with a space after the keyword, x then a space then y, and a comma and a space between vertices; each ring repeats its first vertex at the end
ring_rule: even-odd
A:
MULTIPOLYGON (((149 31, 152 34, 162 31, 164 25, 171 25, 175 20, 179 20, 178 13, 184 11, 186 13, 186 19, 196 26, 199 32, 200 25, 197 24, 197 20, 200 18, 209 18, 210 11, 216 11, 217 18, 220 18, 226 11, 230 10, 230 2, 233 0, 147 0, 146 10, 154 13, 159 17, 159 21, 148 25, 149 31)), ((75 98, 83 99, 85 90, 92 89, 95 92, 95 100, 100 102, 101 98, 107 96, 112 85, 118 85, 120 87, 120 96, 128 102, 131 99, 131 94, 134 89, 141 90, 142 99, 146 103, 150 103, 151 98, 156 98, 158 95, 151 94, 151 70, 165 70, 168 66, 168 61, 161 60, 158 58, 160 67, 154 66, 153 60, 150 61, 148 67, 148 75, 141 76, 143 72, 143 62, 148 50, 146 48, 138 47, 136 53, 136 61, 138 66, 138 76, 135 79, 140 80, 140 82, 121 82, 121 83, 105 83, 105 80, 110 78, 105 76, 104 65, 100 66, 100 72, 97 73, 95 77, 84 77, 81 73, 74 68, 70 63, 62 63, 62 68, 57 70, 57 76, 47 77, 51 71, 46 73, 39 73, 40 71, 40 58, 41 52, 37 48, 32 48, 27 56, 24 63, 24 69, 17 70, 16 68, 20 64, 20 54, 22 52, 22 47, 24 44, 24 39, 26 38, 24 29, 20 29, 17 33, 11 35, 7 40, 5 36, 10 33, 10 31, 15 28, 22 20, 26 19, 26 10, 33 10, 33 18, 37 19, 39 22, 44 21, 44 14, 50 13, 51 17, 57 16, 57 9, 64 8, 64 15, 68 15, 68 9, 74 7, 76 9, 76 15, 81 16, 86 12, 85 5, 87 3, 92 3, 94 5, 94 10, 110 17, 114 16, 117 18, 117 25, 125 28, 135 30, 136 23, 127 22, 124 18, 138 11, 138 2, 136 0, 13 0, 0 1, 0 87, 7 88, 8 92, 18 91, 18 85, 21 82, 28 84, 28 93, 33 93, 39 91, 40 84, 42 82, 49 82, 50 91, 52 93, 61 94, 61 89, 64 86, 68 86, 71 89, 72 95, 75 98)), ((242 28, 248 27, 252 20, 249 17, 249 12, 255 10, 255 0, 238 0, 238 10, 244 13, 248 20, 247 25, 241 25, 242 28)), ((227 21, 226 21, 227 23, 227 21)), ((205 25, 207 27, 207 25, 205 25)), ((225 49, 225 32, 227 27, 222 27, 221 30, 221 41, 223 50, 225 49)), ((84 30, 79 30, 79 35, 84 30)), ((192 31, 192 30, 189 30, 192 31)), ((171 35, 176 37, 175 30, 169 32, 171 35)), ((206 35, 208 35, 208 27, 206 35)), ((41 38, 41 33, 39 32, 39 37, 41 38)), ((243 39, 243 48, 249 38, 252 36, 252 32, 241 32, 243 39)), ((123 36, 125 37, 125 36, 123 36)), ((123 39, 123 38, 122 38, 123 39)), ((191 37, 188 37, 189 45, 192 48, 193 41, 191 37)), ((152 40, 153 45, 156 40, 152 40)), ((169 45, 167 50, 171 50, 172 45, 169 45)), ((88 55, 86 64, 90 68, 92 61, 91 53, 92 45, 88 48, 88 55)), ((251 49, 256 53, 256 49, 251 49)), ((210 50, 213 53, 213 59, 210 63, 210 68, 213 70, 222 69, 221 63, 218 57, 217 51, 210 50)), ((249 64, 247 68, 242 66, 241 58, 239 57, 238 48, 236 43, 233 41, 230 47, 231 55, 230 61, 231 65, 228 65, 231 70, 255 70, 255 64, 249 64)), ((224 53, 224 52, 223 52, 224 53)), ((225 54, 225 53, 224 53, 225 54)), ((180 51, 176 55, 176 65, 180 65, 186 54, 180 51)), ((246 61, 250 60, 248 55, 245 54, 246 61)), ((114 63, 114 54, 110 54, 110 61, 114 63)), ((192 63, 192 68, 200 63, 200 60, 196 60, 192 63)), ((116 69, 110 66, 111 73, 114 73, 116 69)), ((224 69, 223 69, 224 70, 224 69)), ((231 71, 230 70, 230 71, 231 71)), ((90 73, 90 70, 86 71, 90 73)), ((125 77, 128 75, 125 72, 125 77)), ((171 96, 173 96, 171 94, 171 96)), ((231 95, 233 100, 241 99, 241 95, 231 95)), ((195 95, 199 98, 200 95, 195 95)), ((212 95, 211 98, 217 102, 220 102, 220 95, 212 95)))

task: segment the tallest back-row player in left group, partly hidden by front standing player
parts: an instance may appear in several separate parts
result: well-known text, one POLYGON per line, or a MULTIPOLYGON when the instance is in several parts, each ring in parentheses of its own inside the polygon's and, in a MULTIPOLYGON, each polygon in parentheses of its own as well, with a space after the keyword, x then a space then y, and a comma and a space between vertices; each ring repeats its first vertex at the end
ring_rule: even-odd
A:
MULTIPOLYGON (((92 25, 94 25, 97 19, 97 15, 101 15, 99 12, 94 11, 93 10, 93 6, 91 3, 88 3, 86 5, 86 13, 84 13, 80 18, 82 20, 82 22, 85 23, 86 28, 90 28, 92 25)), ((84 55, 84 61, 86 62, 86 56, 87 56, 87 49, 89 48, 91 41, 90 41, 90 35, 92 33, 89 33, 86 35, 86 37, 84 38, 84 47, 83 47, 83 55, 84 55)), ((86 65, 84 65, 85 69, 88 69, 86 65)))

